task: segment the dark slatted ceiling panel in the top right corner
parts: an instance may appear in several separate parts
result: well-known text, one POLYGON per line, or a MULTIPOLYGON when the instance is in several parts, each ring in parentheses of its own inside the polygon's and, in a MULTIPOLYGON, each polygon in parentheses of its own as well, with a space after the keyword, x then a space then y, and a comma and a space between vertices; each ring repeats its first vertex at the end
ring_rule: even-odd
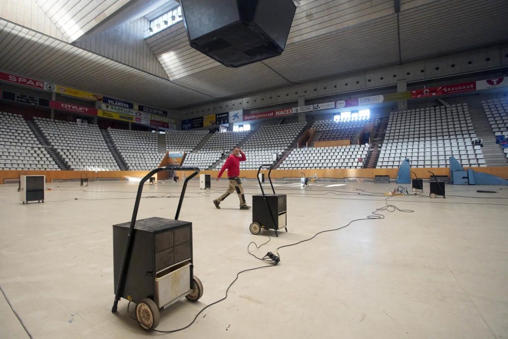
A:
POLYGON ((506 0, 449 0, 400 13, 402 61, 508 41, 506 0))

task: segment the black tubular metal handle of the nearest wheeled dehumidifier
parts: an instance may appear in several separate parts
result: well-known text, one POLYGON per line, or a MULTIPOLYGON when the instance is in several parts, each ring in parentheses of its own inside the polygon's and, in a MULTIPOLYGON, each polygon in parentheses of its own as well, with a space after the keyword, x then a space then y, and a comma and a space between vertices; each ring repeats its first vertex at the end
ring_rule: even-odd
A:
POLYGON ((162 172, 162 171, 194 171, 193 174, 190 174, 185 181, 183 182, 182 193, 180 194, 180 200, 178 201, 178 207, 176 208, 175 220, 178 220, 180 215, 180 209, 183 203, 183 197, 185 196, 185 190, 187 189, 187 182, 194 178, 199 172, 200 169, 198 167, 159 167, 152 171, 150 171, 147 175, 145 175, 138 186, 138 193, 136 195, 136 201, 134 202, 134 210, 132 212, 131 226, 129 227, 129 233, 127 234, 127 242, 125 244, 125 251, 123 252, 123 261, 122 268, 120 269, 120 279, 118 280, 118 285, 116 286, 115 292, 115 301, 113 302, 113 307, 111 312, 115 313, 118 307, 118 301, 120 300, 120 296, 123 293, 123 285, 126 275, 125 267, 128 266, 131 260, 131 252, 132 252, 132 243, 134 238, 134 226, 136 225, 136 217, 138 216, 138 208, 139 202, 141 200, 141 194, 143 193, 143 184, 146 180, 153 176, 153 174, 162 172))

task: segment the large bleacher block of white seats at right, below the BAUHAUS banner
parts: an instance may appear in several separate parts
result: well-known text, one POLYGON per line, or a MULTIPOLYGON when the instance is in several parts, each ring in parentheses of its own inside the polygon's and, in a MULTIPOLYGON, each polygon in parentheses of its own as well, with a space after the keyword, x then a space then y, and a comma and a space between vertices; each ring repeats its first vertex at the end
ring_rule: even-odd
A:
POLYGON ((408 158, 412 167, 447 167, 454 156, 464 166, 486 166, 467 104, 390 113, 376 168, 397 168, 408 158))

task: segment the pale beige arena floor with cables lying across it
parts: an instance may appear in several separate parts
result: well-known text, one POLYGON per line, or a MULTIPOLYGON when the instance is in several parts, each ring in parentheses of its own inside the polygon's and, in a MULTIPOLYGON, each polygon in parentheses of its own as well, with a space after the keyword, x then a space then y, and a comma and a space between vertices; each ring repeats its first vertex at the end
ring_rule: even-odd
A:
MULTIPOLYGON (((255 184, 244 183, 248 203, 259 192, 255 184)), ((289 232, 272 237, 257 254, 365 218, 384 206, 386 197, 358 189, 386 192, 397 186, 318 184, 301 189, 298 183, 277 183, 278 193, 288 194, 289 232)), ((211 199, 226 181, 212 185, 204 192, 192 181, 180 216, 193 222, 195 274, 204 296, 163 311, 158 329, 186 325, 201 307, 223 297, 237 271, 262 265, 247 254, 249 241, 273 236, 249 233, 251 212, 238 210, 236 196, 215 209, 211 199)), ((46 193, 46 203, 22 205, 17 186, 0 186, 0 285, 15 310, 35 338, 145 337, 127 315, 125 301, 117 315, 110 312, 111 225, 130 220, 137 183, 48 187, 53 190, 46 193)), ((180 187, 146 186, 145 195, 177 196, 180 187)), ((508 188, 491 195, 477 189, 447 186, 446 200, 390 198, 415 212, 384 212, 384 220, 356 222, 282 249, 280 265, 241 275, 226 301, 171 337, 506 337, 508 188)), ((138 219, 173 218, 177 201, 143 199, 138 219)), ((2 295, 0 337, 27 337, 2 295)))

